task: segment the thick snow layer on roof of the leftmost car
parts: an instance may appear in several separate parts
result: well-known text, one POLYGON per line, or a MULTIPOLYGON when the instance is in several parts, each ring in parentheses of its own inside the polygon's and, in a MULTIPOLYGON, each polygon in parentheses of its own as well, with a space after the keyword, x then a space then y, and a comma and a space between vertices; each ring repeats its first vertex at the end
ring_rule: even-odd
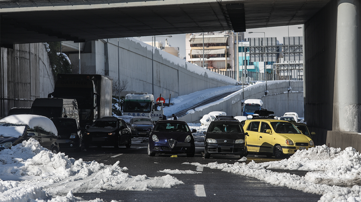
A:
POLYGON ((0 123, 12 123, 19 125, 28 125, 30 128, 41 127, 45 131, 51 132, 58 136, 56 127, 49 118, 45 116, 32 115, 32 114, 17 114, 6 116, 0 120, 0 123))

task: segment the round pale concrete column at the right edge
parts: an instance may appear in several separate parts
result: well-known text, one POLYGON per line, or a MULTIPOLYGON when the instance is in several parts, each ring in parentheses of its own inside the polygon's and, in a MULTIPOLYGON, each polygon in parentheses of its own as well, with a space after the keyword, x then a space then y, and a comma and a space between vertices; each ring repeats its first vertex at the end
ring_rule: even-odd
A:
POLYGON ((361 132, 361 6, 339 0, 332 130, 361 132))

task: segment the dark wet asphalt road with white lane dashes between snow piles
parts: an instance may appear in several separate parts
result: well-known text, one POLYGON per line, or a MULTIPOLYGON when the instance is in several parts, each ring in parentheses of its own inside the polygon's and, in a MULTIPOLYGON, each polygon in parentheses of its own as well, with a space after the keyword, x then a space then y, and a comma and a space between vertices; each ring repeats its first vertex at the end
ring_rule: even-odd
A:
MULTIPOLYGON (((107 190, 101 193, 75 193, 75 196, 86 200, 101 198, 104 201, 145 201, 145 202, 177 202, 177 201, 256 201, 256 202, 313 202, 320 199, 320 195, 304 193, 287 187, 270 185, 255 178, 227 173, 218 169, 208 167, 196 167, 184 162, 199 162, 208 164, 210 162, 233 164, 239 160, 239 156, 233 155, 211 155, 210 159, 204 159, 201 143, 197 143, 196 155, 186 157, 185 154, 178 157, 171 155, 147 155, 147 141, 145 139, 133 139, 132 147, 91 147, 87 151, 71 152, 65 151, 66 155, 74 159, 82 158, 84 161, 97 161, 112 165, 120 161, 120 167, 127 167, 125 171, 129 175, 147 175, 156 177, 166 175, 158 171, 170 170, 193 170, 200 174, 171 174, 184 184, 173 188, 152 188, 152 191, 119 191, 107 190), (143 142, 142 142, 143 141, 143 142)), ((265 156, 247 156, 249 161, 264 162, 274 161, 274 158, 265 156)), ((279 171, 284 172, 284 171, 279 171)), ((292 171, 291 174, 305 175, 306 171, 292 171)))

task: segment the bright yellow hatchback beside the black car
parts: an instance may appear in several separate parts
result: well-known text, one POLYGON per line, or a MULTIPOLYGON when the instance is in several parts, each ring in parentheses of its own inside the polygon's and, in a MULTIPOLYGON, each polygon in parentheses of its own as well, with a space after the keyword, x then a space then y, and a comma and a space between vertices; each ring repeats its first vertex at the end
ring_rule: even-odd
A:
POLYGON ((283 159, 297 150, 314 147, 312 139, 289 121, 251 119, 245 121, 243 129, 248 133, 245 136, 246 154, 256 152, 283 159))

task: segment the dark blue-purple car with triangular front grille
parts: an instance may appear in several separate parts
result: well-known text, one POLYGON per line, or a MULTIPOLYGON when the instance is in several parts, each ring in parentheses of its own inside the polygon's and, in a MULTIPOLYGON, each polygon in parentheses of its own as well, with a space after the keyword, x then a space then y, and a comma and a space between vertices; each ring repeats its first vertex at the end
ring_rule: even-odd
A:
POLYGON ((148 155, 186 153, 193 157, 195 153, 194 138, 187 123, 181 120, 160 120, 149 136, 148 155))

